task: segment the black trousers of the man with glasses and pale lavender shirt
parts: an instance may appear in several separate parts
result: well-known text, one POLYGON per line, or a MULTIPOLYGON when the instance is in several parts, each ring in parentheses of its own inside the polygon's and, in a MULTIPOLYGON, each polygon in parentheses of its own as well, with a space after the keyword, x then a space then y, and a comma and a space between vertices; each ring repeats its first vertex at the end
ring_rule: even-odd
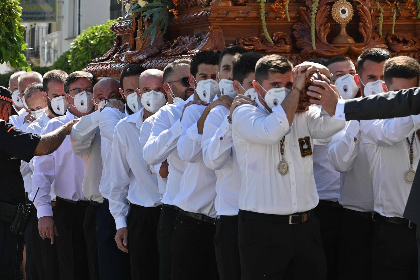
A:
POLYGON ((89 279, 83 222, 87 206, 57 197, 54 222, 61 280, 89 279))

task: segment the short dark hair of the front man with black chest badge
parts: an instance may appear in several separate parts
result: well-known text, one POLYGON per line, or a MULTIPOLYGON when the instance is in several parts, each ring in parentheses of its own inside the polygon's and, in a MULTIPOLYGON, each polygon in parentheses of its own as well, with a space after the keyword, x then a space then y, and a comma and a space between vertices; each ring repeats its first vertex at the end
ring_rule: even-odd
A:
POLYGON ((269 72, 285 74, 293 70, 293 65, 289 60, 281 55, 266 55, 258 60, 255 65, 255 80, 259 83, 268 79, 269 72))

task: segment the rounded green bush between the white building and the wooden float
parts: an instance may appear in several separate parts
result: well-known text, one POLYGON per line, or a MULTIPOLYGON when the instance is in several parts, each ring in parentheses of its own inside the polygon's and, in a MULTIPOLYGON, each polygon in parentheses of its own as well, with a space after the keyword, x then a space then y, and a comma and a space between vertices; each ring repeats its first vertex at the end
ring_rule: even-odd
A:
POLYGON ((114 44, 115 34, 110 30, 110 26, 115 24, 115 20, 108 20, 103 24, 90 26, 83 31, 71 43, 70 50, 66 54, 60 55, 58 64, 54 63, 58 69, 67 73, 82 70, 92 62, 92 59, 101 57, 114 44), (68 66, 66 67, 66 57, 68 66), (66 69, 63 69, 66 68, 66 69))

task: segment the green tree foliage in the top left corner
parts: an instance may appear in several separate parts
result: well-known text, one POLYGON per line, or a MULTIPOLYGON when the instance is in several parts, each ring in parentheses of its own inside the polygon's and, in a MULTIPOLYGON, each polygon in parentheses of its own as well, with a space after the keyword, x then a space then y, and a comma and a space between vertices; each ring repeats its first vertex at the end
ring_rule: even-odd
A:
POLYGON ((13 68, 28 67, 23 33, 25 27, 21 25, 22 8, 19 0, 1 1, 0 9, 0 63, 10 62, 13 68))

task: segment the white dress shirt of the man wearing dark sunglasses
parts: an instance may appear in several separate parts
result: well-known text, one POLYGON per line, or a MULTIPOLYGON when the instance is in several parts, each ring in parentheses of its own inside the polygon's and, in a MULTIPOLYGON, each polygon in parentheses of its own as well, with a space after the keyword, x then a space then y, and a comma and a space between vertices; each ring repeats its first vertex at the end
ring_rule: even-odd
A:
POLYGON ((184 102, 168 104, 155 113, 150 137, 143 148, 144 160, 150 165, 157 165, 164 160, 168 161, 168 180, 166 190, 162 196, 163 204, 173 204, 178 194, 179 184, 185 170, 185 163, 178 155, 178 139, 181 136, 181 118, 184 105, 194 100, 194 94, 184 102))

